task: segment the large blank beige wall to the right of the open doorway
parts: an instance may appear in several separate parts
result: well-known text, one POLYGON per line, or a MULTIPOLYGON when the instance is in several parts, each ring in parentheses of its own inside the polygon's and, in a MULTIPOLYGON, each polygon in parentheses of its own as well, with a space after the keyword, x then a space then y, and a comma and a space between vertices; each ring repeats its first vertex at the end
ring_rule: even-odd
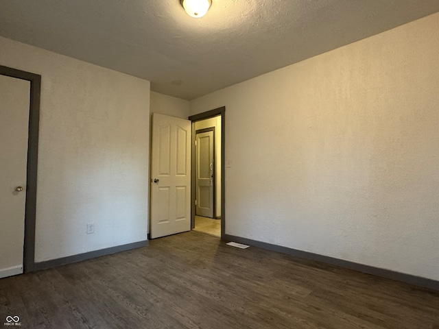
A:
POLYGON ((439 280, 439 13, 191 101, 226 106, 226 233, 439 280))

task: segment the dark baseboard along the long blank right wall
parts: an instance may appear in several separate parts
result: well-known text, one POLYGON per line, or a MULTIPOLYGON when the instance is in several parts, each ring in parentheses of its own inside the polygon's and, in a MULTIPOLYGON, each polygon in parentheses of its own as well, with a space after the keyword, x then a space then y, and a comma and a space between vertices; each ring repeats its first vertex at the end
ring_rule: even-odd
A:
POLYGON ((282 247, 281 245, 272 245, 271 243, 265 243, 261 241, 241 238, 240 236, 224 234, 224 240, 235 241, 237 243, 244 243, 246 245, 252 245, 254 247, 261 247, 263 249, 272 250, 274 252, 281 252, 283 254, 289 254, 299 258, 316 260, 321 263, 335 265, 338 267, 344 267, 345 269, 353 269, 354 271, 372 274, 373 276, 381 276, 382 278, 388 278, 396 281, 414 284, 419 287, 424 287, 424 288, 429 288, 439 291, 439 281, 422 278, 420 276, 412 276, 410 274, 400 273, 400 272, 392 271, 390 269, 381 269, 379 267, 353 263, 348 260, 342 260, 339 258, 323 256, 319 254, 313 254, 312 252, 303 252, 302 250, 282 247))

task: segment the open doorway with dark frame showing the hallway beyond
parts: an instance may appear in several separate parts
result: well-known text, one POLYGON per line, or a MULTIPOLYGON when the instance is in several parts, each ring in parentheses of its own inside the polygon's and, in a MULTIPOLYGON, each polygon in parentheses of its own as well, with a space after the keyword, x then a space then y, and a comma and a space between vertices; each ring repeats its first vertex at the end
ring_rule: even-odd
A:
POLYGON ((224 237, 224 131, 226 108, 189 117, 192 121, 191 228, 224 237))

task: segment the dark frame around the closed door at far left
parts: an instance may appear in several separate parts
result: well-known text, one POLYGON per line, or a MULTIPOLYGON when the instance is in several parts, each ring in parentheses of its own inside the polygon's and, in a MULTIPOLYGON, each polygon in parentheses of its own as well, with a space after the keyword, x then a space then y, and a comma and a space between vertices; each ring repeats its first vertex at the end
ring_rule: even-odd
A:
POLYGON ((25 243, 23 272, 35 268, 36 175, 38 169, 38 130, 40 125, 41 75, 0 65, 0 75, 30 82, 29 135, 27 140, 27 185, 25 204, 25 243))

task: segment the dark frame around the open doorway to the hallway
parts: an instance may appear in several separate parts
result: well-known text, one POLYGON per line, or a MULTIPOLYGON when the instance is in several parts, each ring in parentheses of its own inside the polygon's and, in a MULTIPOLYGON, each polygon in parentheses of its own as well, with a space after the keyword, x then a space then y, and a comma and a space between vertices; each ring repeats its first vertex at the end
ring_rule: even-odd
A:
MULTIPOLYGON (((191 115, 192 121, 192 165, 191 175, 195 178, 195 121, 201 121, 213 117, 221 117, 221 239, 224 240, 226 233, 226 106, 215 108, 207 112, 191 115)), ((191 182, 191 228, 195 228, 195 180, 191 182)))

